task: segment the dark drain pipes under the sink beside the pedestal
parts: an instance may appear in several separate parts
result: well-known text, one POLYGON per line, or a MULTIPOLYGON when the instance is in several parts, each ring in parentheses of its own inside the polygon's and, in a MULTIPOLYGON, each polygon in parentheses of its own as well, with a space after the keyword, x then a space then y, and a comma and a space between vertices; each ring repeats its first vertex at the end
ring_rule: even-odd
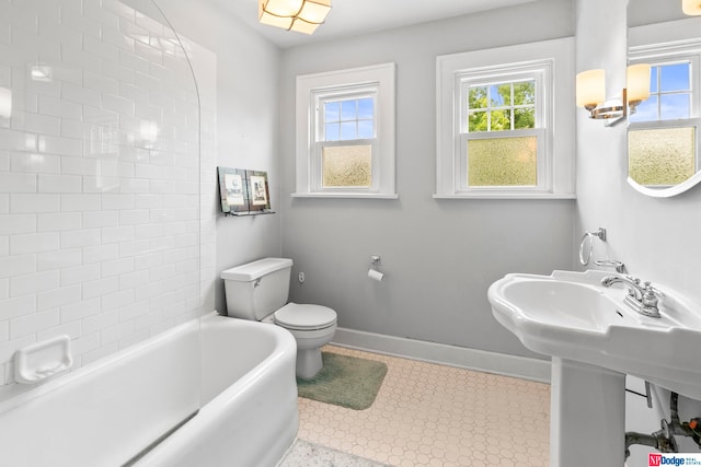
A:
POLYGON ((659 451, 660 453, 678 453, 677 440, 675 435, 691 437, 699 447, 701 447, 701 418, 693 418, 688 422, 681 422, 679 420, 679 412, 677 410, 679 395, 671 393, 669 396, 669 411, 670 421, 663 419, 662 430, 658 430, 652 434, 636 433, 629 431, 625 433, 625 458, 631 455, 630 446, 633 444, 641 444, 651 446, 659 451))

